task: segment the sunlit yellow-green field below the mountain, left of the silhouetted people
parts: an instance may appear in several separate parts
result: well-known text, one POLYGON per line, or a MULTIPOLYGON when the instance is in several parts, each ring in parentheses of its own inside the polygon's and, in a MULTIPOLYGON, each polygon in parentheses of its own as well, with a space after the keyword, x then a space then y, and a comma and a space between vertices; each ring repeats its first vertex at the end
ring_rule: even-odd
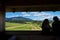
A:
MULTIPOLYGON (((41 23, 40 23, 41 24, 41 23)), ((5 22, 5 30, 42 30, 41 25, 37 23, 27 22, 27 23, 13 23, 5 22)))

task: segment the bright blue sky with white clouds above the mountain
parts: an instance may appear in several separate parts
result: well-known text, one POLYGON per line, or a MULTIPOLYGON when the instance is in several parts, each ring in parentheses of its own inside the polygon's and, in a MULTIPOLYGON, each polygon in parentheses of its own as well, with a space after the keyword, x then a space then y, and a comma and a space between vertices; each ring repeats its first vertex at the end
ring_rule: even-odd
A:
POLYGON ((25 17, 30 18, 32 20, 44 20, 49 19, 52 20, 54 16, 57 16, 60 19, 60 11, 42 11, 42 12, 6 12, 5 17, 11 18, 11 17, 25 17))

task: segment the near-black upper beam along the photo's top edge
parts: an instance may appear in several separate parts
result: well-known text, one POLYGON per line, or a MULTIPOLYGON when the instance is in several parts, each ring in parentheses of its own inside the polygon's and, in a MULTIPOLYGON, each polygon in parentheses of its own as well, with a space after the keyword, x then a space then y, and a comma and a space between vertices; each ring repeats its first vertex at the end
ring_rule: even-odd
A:
POLYGON ((60 4, 59 0, 5 0, 5 5, 49 5, 60 4))

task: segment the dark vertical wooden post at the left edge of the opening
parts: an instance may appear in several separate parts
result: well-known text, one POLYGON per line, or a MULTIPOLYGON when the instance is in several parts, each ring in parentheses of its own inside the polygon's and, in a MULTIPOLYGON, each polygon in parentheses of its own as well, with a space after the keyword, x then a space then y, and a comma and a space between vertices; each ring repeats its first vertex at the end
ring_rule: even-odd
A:
POLYGON ((5 30, 5 6, 0 5, 0 32, 5 30))

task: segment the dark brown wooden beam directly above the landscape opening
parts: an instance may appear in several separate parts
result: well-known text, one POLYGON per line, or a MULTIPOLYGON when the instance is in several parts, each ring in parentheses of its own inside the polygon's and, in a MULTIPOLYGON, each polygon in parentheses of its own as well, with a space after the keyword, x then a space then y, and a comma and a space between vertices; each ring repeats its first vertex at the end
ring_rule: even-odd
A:
POLYGON ((60 5, 30 5, 30 6, 6 6, 6 11, 60 11, 60 5))

